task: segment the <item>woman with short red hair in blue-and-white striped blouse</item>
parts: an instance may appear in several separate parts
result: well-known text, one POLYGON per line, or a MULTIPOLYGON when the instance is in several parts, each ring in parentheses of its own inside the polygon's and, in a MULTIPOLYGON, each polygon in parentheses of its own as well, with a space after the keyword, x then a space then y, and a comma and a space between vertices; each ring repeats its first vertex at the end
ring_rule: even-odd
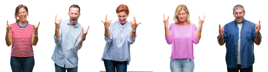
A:
POLYGON ((136 39, 136 28, 140 23, 134 21, 127 22, 129 8, 121 4, 116 8, 118 20, 111 23, 112 20, 102 21, 105 27, 104 39, 106 45, 102 55, 106 72, 126 72, 127 64, 130 61, 130 44, 136 39), (111 24, 110 24, 111 23, 111 24))

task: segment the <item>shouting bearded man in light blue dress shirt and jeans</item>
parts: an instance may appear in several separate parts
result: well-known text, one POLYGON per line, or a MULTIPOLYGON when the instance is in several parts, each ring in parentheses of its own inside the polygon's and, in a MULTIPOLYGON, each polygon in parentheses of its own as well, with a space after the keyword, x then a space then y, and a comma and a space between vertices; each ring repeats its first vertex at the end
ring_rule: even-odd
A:
POLYGON ((69 20, 57 20, 55 17, 55 49, 51 59, 55 62, 56 72, 77 72, 78 55, 77 52, 82 47, 86 39, 87 31, 77 22, 80 16, 80 7, 72 5, 69 8, 69 20))

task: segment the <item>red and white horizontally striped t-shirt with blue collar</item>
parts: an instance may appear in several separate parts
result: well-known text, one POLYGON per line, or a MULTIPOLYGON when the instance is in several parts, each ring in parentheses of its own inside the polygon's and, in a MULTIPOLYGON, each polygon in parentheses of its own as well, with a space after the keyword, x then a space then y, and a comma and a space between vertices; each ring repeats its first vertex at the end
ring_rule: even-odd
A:
POLYGON ((9 35, 12 35, 11 56, 31 57, 34 56, 32 49, 33 25, 28 24, 21 27, 16 23, 11 24, 9 35))

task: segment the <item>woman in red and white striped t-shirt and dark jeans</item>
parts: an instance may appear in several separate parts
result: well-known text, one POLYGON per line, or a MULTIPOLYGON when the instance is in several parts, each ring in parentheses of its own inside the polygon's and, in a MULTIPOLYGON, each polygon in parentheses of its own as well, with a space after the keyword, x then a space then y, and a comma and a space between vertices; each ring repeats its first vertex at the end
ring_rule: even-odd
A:
POLYGON ((10 65, 13 72, 32 72, 35 65, 32 45, 38 42, 38 25, 28 24, 28 8, 25 5, 17 6, 15 10, 16 23, 8 25, 6 44, 10 46, 10 65))

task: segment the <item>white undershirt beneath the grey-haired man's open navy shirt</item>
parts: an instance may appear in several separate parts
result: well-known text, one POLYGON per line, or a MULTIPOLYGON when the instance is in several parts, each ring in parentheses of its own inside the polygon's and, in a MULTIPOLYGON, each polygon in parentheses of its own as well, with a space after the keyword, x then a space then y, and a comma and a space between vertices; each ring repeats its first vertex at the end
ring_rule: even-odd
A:
POLYGON ((238 49, 237 49, 237 64, 241 64, 241 59, 240 59, 240 33, 241 33, 241 29, 242 29, 242 23, 237 24, 238 28, 239 28, 239 38, 238 38, 238 49))

